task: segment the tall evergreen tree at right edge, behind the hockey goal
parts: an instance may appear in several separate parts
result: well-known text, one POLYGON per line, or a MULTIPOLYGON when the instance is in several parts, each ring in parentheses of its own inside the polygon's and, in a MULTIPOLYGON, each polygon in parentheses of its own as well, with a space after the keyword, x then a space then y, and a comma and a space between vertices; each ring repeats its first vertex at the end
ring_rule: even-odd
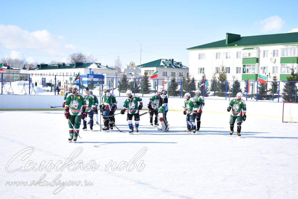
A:
POLYGON ((296 92, 296 83, 298 81, 298 74, 295 73, 294 65, 290 68, 291 76, 287 77, 287 82, 285 83, 282 89, 282 98, 284 102, 296 102, 295 97, 297 96, 296 92))

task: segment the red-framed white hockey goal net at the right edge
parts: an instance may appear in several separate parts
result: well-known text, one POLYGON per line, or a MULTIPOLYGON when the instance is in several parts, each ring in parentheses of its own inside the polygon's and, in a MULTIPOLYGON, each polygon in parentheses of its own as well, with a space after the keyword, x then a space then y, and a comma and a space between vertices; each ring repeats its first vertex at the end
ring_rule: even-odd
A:
POLYGON ((298 102, 283 103, 282 122, 298 123, 298 102))

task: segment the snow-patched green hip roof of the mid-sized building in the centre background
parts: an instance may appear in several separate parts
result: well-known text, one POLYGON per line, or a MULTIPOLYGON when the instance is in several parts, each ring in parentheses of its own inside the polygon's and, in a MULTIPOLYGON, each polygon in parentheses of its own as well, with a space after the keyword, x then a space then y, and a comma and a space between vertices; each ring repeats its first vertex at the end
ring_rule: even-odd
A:
POLYGON ((187 66, 183 66, 182 62, 175 62, 173 60, 173 64, 170 65, 170 63, 172 63, 171 59, 157 59, 155 61, 152 62, 148 62, 148 63, 144 63, 140 65, 138 65, 139 68, 188 68, 187 66))

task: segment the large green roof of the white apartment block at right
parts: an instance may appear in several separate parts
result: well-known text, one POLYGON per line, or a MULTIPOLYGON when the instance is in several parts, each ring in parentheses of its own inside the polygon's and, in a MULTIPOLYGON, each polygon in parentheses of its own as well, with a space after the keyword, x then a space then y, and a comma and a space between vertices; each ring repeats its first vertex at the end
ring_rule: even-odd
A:
POLYGON ((192 48, 188 48, 187 50, 239 47, 239 46, 259 46, 259 45, 273 45, 273 44, 275 45, 298 44, 298 32, 272 34, 272 35, 256 35, 256 36, 246 36, 246 37, 241 37, 241 35, 226 33, 226 39, 195 46, 192 48))

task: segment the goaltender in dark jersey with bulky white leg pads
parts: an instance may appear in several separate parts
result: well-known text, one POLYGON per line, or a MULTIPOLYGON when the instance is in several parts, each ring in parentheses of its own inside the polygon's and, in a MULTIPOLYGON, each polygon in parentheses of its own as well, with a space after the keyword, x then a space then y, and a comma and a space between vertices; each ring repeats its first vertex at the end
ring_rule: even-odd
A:
POLYGON ((160 99, 159 99, 159 109, 157 111, 159 114, 160 121, 160 130, 161 131, 169 131, 168 121, 167 121, 167 112, 168 112, 168 96, 167 91, 162 90, 160 99))

